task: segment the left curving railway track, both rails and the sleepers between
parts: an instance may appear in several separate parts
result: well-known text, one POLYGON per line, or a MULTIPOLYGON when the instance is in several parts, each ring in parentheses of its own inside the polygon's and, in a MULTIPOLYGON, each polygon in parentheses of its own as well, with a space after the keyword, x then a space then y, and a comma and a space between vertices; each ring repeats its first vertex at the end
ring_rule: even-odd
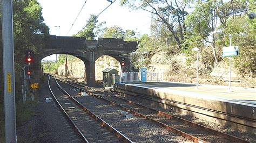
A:
POLYGON ((83 142, 132 142, 85 108, 49 76, 49 89, 59 108, 83 142), (55 90, 53 90, 55 89, 55 90))

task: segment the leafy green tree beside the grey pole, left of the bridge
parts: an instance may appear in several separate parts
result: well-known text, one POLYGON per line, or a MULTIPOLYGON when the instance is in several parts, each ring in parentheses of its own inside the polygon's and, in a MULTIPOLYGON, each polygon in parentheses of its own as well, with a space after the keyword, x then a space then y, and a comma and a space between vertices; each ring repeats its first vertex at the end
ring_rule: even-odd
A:
MULTIPOLYGON (((41 49, 45 44, 45 36, 49 35, 49 27, 44 23, 42 7, 36 0, 14 1, 13 11, 15 61, 22 64, 21 59, 26 50, 35 55, 42 54, 41 49)), ((39 65, 37 57, 33 61, 39 65)))

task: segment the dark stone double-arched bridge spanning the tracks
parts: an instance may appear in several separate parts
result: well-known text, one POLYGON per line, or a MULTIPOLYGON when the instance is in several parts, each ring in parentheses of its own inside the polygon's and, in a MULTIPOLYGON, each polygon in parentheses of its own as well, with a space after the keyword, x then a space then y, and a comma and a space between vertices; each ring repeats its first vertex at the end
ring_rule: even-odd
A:
POLYGON ((102 55, 112 56, 122 62, 125 59, 127 71, 130 67, 130 53, 137 49, 136 41, 124 41, 116 38, 98 38, 98 40, 86 40, 85 37, 59 37, 50 35, 45 38, 46 45, 42 49, 40 59, 52 54, 69 54, 84 61, 86 70, 85 83, 95 87, 95 61, 102 55), (123 56, 120 56, 125 54, 123 56))

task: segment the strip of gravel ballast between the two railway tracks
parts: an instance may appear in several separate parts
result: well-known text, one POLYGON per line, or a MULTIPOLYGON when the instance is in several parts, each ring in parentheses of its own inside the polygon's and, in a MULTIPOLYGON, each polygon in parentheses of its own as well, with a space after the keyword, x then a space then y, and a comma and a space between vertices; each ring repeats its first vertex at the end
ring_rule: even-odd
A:
MULTIPOLYGON (((69 85, 61 86, 70 94, 77 94, 69 85)), ((106 123, 123 133, 127 138, 136 142, 192 142, 151 121, 139 117, 126 118, 119 115, 118 106, 109 104, 102 99, 94 96, 73 96, 78 102, 82 103, 87 109, 102 118, 106 123)))

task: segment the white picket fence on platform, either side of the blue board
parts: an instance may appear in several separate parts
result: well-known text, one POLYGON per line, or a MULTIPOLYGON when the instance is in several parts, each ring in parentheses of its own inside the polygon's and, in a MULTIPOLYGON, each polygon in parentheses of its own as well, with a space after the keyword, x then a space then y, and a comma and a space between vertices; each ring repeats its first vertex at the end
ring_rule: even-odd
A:
MULTIPOLYGON (((160 82, 164 80, 164 73, 147 73, 146 82, 160 82)), ((140 73, 121 73, 120 82, 140 82, 140 73)))

